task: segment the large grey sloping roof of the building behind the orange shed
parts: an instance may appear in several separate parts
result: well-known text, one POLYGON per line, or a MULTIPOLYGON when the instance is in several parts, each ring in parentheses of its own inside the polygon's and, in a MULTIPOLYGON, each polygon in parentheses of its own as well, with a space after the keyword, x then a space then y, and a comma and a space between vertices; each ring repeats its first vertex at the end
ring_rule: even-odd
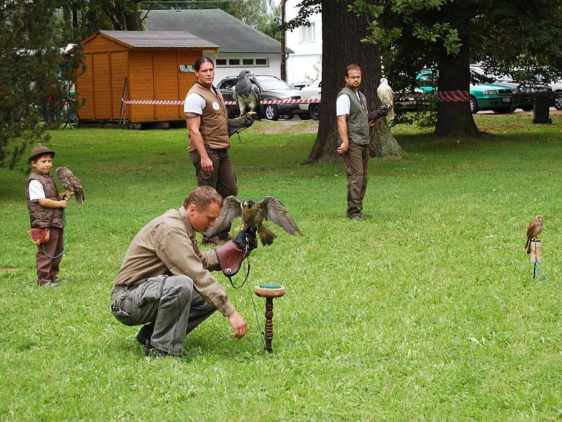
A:
MULTIPOLYGON (((147 11, 143 11, 144 16, 147 11)), ((223 53, 280 53, 281 43, 221 9, 152 10, 144 20, 148 32, 188 30, 209 39, 223 53)), ((287 53, 292 53, 287 49, 287 53)))

